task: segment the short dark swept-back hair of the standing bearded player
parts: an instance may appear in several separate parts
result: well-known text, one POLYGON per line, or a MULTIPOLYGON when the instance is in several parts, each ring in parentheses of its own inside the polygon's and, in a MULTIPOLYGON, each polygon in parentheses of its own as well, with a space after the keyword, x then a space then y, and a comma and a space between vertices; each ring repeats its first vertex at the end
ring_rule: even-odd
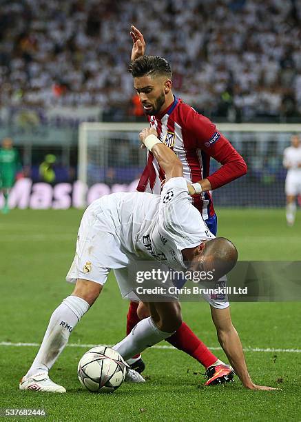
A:
POLYGON ((172 69, 168 61, 159 56, 138 57, 129 65, 129 72, 133 78, 164 75, 172 79, 172 69))

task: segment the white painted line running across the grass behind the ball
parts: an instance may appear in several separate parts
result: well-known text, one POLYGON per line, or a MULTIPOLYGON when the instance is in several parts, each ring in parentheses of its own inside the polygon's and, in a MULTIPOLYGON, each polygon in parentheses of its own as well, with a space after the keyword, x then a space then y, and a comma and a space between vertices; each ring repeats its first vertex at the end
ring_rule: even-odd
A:
MULTIPOLYGON (((23 347, 38 347, 39 343, 11 343, 10 341, 1 341, 0 346, 8 346, 14 348, 23 348, 23 347)), ((69 348, 94 348, 96 346, 106 346, 108 348, 112 347, 112 344, 77 344, 77 343, 70 343, 67 345, 69 348)), ((176 350, 174 346, 167 346, 167 345, 154 345, 152 346, 153 349, 161 349, 161 350, 176 350)), ((222 350, 222 348, 209 348, 210 350, 222 350)), ((301 353, 301 349, 278 349, 278 348, 244 348, 244 352, 283 352, 283 353, 301 353)))

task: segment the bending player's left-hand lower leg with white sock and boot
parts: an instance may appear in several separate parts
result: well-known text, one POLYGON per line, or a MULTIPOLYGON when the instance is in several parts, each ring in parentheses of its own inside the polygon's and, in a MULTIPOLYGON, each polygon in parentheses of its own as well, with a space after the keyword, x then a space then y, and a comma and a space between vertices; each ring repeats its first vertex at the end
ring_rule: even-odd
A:
POLYGON ((48 371, 63 352, 74 327, 96 301, 102 288, 101 284, 93 281, 76 281, 72 294, 52 313, 39 352, 30 370, 20 381, 20 390, 65 392, 65 388, 50 380, 48 371))

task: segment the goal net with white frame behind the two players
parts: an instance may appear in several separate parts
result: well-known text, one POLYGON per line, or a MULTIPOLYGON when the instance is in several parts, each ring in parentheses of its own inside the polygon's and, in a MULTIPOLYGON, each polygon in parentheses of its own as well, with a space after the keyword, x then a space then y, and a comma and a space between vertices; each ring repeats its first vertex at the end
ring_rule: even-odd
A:
MULTIPOLYGON (((79 181, 99 192, 135 190, 145 167, 145 150, 138 134, 147 123, 81 123, 79 128, 79 181)), ((282 166, 284 148, 297 124, 221 123, 225 134, 248 165, 246 176, 214 191, 214 204, 231 207, 282 207, 285 204, 282 166)), ((211 159, 210 172, 218 167, 211 159)), ((90 202, 87 199, 87 202, 90 202)))

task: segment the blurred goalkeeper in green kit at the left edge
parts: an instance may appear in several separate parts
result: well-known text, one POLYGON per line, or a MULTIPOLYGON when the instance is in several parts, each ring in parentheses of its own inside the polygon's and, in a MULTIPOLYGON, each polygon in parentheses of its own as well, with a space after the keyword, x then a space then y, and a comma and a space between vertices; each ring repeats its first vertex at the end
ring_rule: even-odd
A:
POLYGON ((0 148, 0 190, 4 196, 3 214, 7 214, 8 195, 14 185, 17 171, 21 169, 19 153, 12 146, 12 139, 4 138, 0 148))

